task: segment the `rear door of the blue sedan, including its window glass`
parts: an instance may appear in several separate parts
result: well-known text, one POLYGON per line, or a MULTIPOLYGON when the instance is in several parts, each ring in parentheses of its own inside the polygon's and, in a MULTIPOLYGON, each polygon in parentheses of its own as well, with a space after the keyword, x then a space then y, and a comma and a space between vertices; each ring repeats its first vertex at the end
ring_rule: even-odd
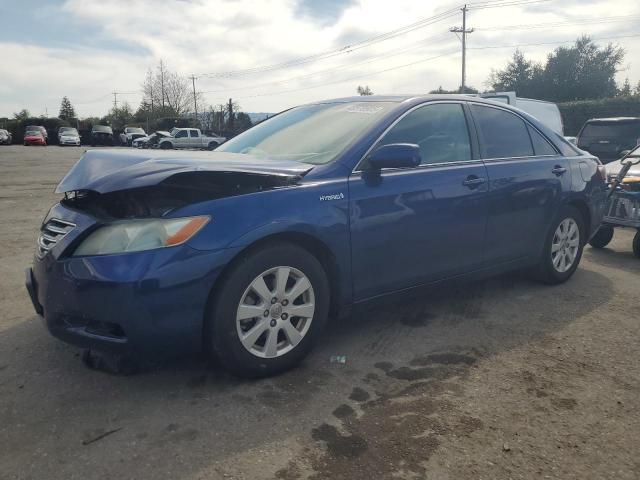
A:
POLYGON ((519 115, 497 106, 470 108, 489 177, 485 260, 537 257, 571 189, 568 161, 519 115))

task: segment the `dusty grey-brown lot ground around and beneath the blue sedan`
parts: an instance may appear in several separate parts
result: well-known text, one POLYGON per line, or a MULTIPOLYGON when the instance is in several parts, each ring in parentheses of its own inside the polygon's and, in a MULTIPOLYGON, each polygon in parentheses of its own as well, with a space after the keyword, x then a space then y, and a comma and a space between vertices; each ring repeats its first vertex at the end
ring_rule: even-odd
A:
POLYGON ((197 359, 114 376, 23 287, 83 150, 0 147, 0 478, 640 478, 631 231, 558 287, 509 275, 361 308, 277 378, 197 359))

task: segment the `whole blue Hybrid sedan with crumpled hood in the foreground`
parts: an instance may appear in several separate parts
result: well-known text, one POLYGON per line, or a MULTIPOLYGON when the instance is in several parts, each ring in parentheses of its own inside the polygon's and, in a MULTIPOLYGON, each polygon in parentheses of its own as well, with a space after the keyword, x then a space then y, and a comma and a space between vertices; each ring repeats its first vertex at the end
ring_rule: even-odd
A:
POLYGON ((568 280, 601 222, 604 175, 508 105, 324 101, 213 152, 86 152, 56 189, 27 290, 66 342, 204 349, 271 375, 353 304, 520 268, 568 280))

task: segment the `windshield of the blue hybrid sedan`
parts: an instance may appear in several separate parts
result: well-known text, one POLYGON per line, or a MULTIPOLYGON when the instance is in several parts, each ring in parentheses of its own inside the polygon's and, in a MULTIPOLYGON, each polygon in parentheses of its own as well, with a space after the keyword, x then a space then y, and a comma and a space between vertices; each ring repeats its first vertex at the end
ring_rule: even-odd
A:
POLYGON ((328 163, 395 105, 353 102, 293 108, 229 140, 216 151, 315 165, 328 163))

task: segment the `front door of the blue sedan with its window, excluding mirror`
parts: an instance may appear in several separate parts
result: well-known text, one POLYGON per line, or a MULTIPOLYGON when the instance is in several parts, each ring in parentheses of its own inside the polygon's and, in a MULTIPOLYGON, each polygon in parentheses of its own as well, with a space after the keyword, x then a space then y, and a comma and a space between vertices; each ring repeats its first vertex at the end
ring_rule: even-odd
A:
POLYGON ((483 260, 487 173, 472 152, 461 103, 432 102, 377 143, 412 143, 422 164, 368 169, 349 180, 356 300, 475 270, 483 260))

